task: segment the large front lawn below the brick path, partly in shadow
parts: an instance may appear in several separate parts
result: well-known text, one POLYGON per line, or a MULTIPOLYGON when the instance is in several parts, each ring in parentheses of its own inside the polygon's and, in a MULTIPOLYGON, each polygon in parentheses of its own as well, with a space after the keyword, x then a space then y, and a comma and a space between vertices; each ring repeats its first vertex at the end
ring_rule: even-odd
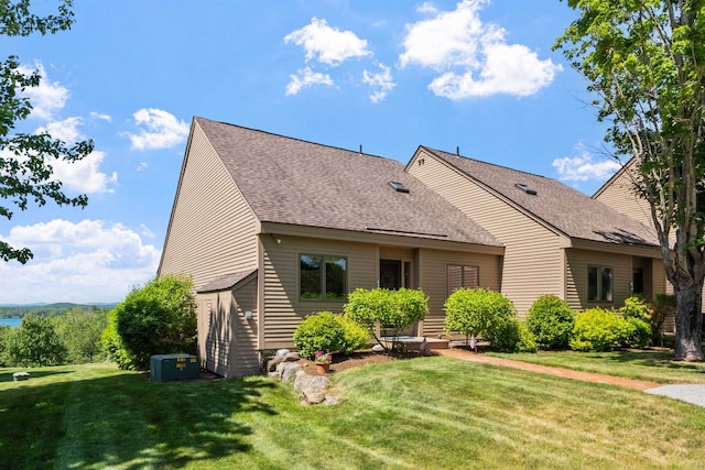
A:
POLYGON ((14 469, 705 467, 705 408, 442 357, 332 374, 335 406, 263 378, 13 371, 0 369, 0 467, 14 469))

